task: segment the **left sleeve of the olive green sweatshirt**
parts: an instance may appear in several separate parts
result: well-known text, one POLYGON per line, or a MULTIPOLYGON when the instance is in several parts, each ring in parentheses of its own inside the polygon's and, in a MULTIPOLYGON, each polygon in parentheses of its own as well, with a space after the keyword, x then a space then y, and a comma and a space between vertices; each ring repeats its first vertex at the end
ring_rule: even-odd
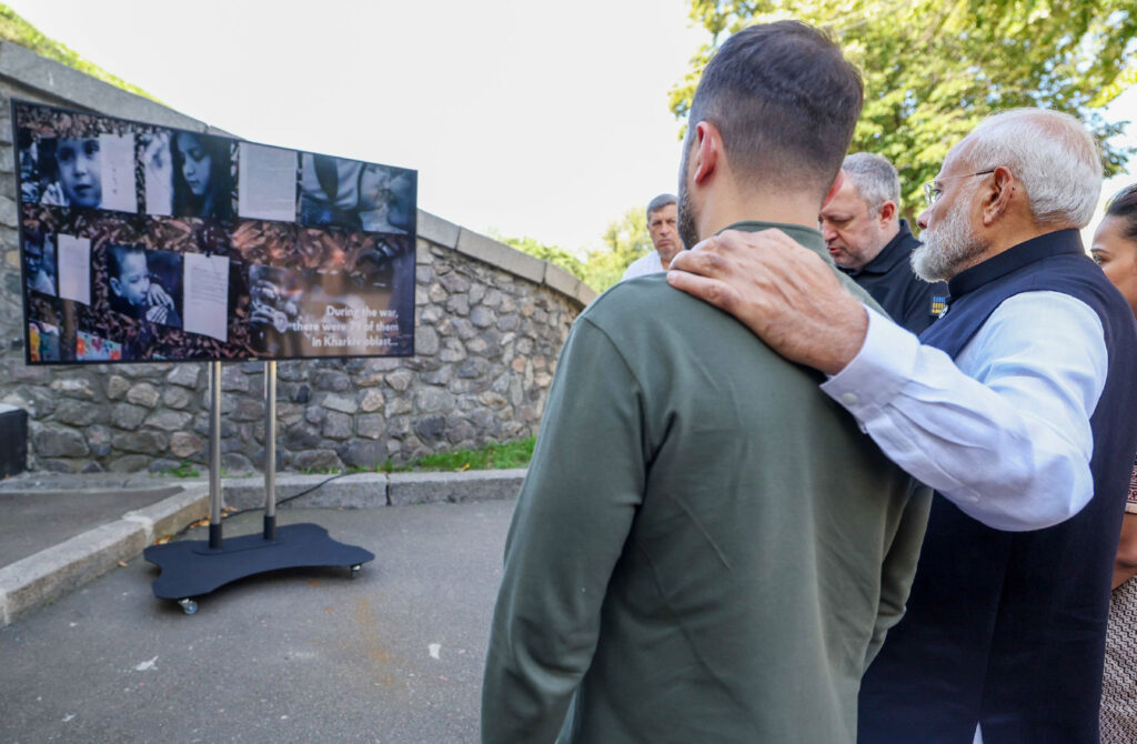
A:
POLYGON ((482 741, 556 739, 588 670, 605 590, 642 499, 644 391, 587 316, 561 353, 505 551, 482 741))

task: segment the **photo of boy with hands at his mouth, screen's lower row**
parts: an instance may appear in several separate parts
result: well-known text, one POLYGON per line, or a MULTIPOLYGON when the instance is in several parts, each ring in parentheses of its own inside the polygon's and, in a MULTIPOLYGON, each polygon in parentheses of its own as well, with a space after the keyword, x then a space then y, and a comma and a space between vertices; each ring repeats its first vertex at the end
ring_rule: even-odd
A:
POLYGON ((181 255, 141 246, 110 246, 107 250, 110 309, 135 320, 181 328, 181 255))

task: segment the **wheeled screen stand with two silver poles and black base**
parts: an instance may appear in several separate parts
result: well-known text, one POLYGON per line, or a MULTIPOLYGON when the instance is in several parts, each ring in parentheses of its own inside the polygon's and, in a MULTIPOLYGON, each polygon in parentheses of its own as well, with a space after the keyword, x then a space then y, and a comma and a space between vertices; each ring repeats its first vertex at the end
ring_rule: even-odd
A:
POLYGON ((318 524, 276 527, 276 362, 265 362, 265 526, 262 535, 222 539, 221 529, 221 362, 209 363, 209 539, 181 540, 146 548, 146 560, 161 570, 153 595, 174 600, 185 614, 198 611, 193 597, 248 576, 310 565, 342 565, 355 578, 375 555, 337 543, 318 524))

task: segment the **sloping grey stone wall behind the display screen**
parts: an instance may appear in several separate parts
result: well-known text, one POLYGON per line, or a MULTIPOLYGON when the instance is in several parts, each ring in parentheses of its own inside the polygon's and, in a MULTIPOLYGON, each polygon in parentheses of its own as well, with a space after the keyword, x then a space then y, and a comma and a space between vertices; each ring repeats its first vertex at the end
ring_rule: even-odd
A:
MULTIPOLYGON (((28 464, 97 472, 205 462, 207 364, 24 364, 13 97, 216 130, 0 42, 0 400, 28 412, 28 464)), ((277 468, 372 468, 537 432, 557 354, 595 294, 551 264, 425 212, 416 248, 416 355, 280 363, 277 468)), ((264 415, 264 364, 225 364, 230 472, 263 465, 264 415)))

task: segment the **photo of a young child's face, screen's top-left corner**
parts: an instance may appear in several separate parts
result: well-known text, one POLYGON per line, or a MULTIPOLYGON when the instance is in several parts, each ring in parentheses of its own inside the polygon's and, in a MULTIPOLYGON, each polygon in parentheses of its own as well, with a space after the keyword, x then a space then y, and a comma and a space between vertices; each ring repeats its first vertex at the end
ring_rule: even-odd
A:
POLYGON ((55 207, 102 206, 99 138, 44 138, 38 143, 40 204, 55 207))

